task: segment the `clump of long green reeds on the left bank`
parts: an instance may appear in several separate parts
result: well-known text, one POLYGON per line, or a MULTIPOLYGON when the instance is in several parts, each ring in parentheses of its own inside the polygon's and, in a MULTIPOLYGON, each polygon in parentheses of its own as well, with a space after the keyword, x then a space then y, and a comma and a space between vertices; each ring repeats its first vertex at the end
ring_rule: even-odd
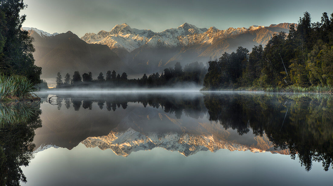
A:
POLYGON ((34 84, 21 76, 4 76, 0 74, 0 100, 24 100, 36 98, 34 84))

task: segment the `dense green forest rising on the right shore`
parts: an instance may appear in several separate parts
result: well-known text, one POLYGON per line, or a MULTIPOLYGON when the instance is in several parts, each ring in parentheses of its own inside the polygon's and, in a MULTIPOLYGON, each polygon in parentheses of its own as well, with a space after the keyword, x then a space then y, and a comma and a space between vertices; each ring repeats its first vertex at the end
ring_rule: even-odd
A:
POLYGON ((280 32, 265 47, 254 46, 250 53, 238 47, 208 64, 204 90, 292 91, 317 86, 333 91, 333 13, 329 18, 324 12, 320 22, 311 23, 310 14, 305 12, 297 28, 290 26, 288 35, 280 32))

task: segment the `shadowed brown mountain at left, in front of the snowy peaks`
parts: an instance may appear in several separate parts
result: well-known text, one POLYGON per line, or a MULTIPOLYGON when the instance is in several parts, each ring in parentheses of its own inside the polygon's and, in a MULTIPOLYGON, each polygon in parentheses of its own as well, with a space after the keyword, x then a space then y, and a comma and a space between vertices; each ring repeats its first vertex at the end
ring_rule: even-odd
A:
POLYGON ((35 64, 42 67, 41 78, 48 82, 54 82, 58 72, 63 77, 66 73, 72 76, 74 71, 81 75, 91 71, 97 76, 105 69, 128 69, 106 45, 88 44, 70 31, 49 34, 35 28, 23 29, 35 39, 35 64))

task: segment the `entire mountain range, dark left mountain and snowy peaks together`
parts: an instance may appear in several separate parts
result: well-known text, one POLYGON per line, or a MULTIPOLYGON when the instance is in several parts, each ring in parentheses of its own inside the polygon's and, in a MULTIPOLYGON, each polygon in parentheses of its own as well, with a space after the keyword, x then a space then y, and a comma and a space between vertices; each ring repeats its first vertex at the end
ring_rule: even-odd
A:
POLYGON ((266 45, 274 34, 288 33, 291 24, 294 23, 218 30, 184 23, 178 28, 153 32, 123 23, 110 32, 86 33, 81 38, 70 31, 49 34, 36 28, 23 29, 35 38, 36 65, 43 68, 42 78, 47 79, 55 78, 57 72, 92 71, 97 76, 99 72, 118 70, 142 75, 161 72, 176 62, 182 66, 195 61, 205 63, 238 46, 251 51, 254 45, 266 45))

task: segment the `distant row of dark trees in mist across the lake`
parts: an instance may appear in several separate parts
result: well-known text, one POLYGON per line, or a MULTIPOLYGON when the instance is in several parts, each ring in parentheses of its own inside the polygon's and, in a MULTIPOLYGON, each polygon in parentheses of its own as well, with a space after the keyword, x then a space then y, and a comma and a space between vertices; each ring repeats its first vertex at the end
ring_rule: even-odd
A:
POLYGON ((147 76, 144 74, 142 78, 138 79, 128 79, 127 73, 122 73, 122 75, 117 74, 116 71, 107 71, 104 74, 101 72, 97 79, 93 79, 92 72, 84 73, 82 76, 79 71, 75 71, 72 78, 69 73, 67 73, 62 78, 59 72, 56 77, 57 88, 69 88, 69 87, 82 87, 82 86, 103 86, 111 88, 124 88, 124 87, 163 87, 171 86, 176 83, 191 82, 196 85, 201 86, 203 83, 203 78, 207 72, 206 67, 203 63, 190 63, 185 65, 184 68, 181 67, 180 63, 177 62, 174 68, 169 67, 164 69, 161 75, 157 72, 147 76))

